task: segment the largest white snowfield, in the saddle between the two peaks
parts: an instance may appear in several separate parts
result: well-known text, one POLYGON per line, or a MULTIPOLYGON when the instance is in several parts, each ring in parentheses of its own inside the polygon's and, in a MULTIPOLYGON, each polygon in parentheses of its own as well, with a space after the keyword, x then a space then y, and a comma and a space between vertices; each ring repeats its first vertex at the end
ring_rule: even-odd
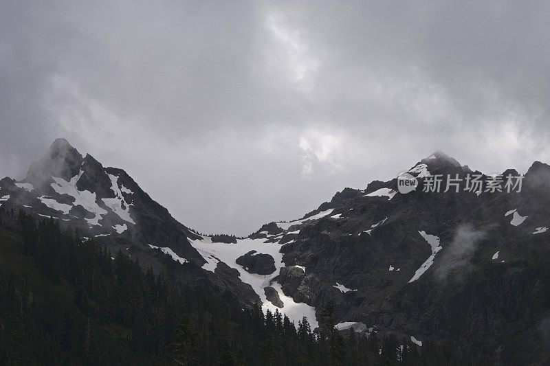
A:
MULTIPOLYGON (((323 211, 322 213, 316 215, 318 217, 321 214, 327 216, 330 214, 332 209, 323 211)), ((311 220, 314 216, 311 216, 311 220)), ((308 219, 305 219, 308 220, 308 219)), ((298 221, 305 221, 298 220, 298 221)), ((296 222, 296 221, 295 221, 296 222)), ((290 224, 290 222, 288 222, 290 224)), ((296 225, 296 224, 293 224, 296 225)), ((290 227, 292 225, 289 225, 290 227)), ((262 301, 262 310, 265 312, 267 309, 274 312, 276 309, 279 310, 282 314, 286 314, 291 321, 294 321, 294 324, 297 326, 298 321, 301 321, 303 317, 307 317, 311 325, 311 329, 318 327, 318 322, 315 317, 315 308, 309 306, 305 303, 297 303, 283 293, 281 285, 277 282, 274 282, 273 279, 279 274, 281 268, 285 266, 283 263, 283 253, 280 253, 282 245, 278 243, 268 243, 265 242, 266 239, 239 239, 236 244, 226 244, 223 242, 212 242, 212 238, 206 237, 203 239, 189 240, 192 247, 197 249, 202 255, 206 264, 203 264, 202 268, 206 271, 214 272, 216 266, 219 262, 224 262, 228 266, 235 268, 239 271, 240 279, 245 284, 250 284, 256 294, 259 295, 262 301), (275 260, 275 271, 271 275, 258 275, 256 273, 248 273, 245 271, 243 266, 236 264, 236 259, 241 255, 244 255, 250 251, 256 251, 257 253, 269 254, 275 260), (273 287, 281 301, 283 301, 283 308, 277 308, 274 306, 271 301, 268 301, 265 297, 264 288, 271 286, 273 287)))

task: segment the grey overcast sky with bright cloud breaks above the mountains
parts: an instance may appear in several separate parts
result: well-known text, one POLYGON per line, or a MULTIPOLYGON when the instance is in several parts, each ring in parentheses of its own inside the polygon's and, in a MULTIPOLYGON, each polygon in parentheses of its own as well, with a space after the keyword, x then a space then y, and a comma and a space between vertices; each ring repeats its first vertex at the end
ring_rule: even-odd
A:
POLYGON ((65 137, 246 235, 434 150, 525 172, 550 161, 549 4, 0 0, 0 175, 65 137))

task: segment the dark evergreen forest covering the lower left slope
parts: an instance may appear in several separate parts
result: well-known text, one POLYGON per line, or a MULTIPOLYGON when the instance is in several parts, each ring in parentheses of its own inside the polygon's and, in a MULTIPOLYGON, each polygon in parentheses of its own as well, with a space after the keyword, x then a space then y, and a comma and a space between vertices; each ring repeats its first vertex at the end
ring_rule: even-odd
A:
POLYGON ((6 365, 453 365, 406 339, 340 334, 327 304, 320 330, 229 293, 186 288, 0 207, 0 360, 6 365), (114 259, 111 259, 114 258, 114 259))

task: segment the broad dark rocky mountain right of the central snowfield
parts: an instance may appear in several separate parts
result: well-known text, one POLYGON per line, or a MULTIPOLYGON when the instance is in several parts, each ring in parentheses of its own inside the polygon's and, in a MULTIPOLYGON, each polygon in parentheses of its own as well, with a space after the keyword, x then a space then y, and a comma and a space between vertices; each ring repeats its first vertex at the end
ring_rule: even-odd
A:
POLYGON ((537 305, 550 296, 550 286, 540 286, 550 279, 541 272, 550 258, 550 229, 544 231, 550 227, 550 166, 534 163, 519 193, 465 191, 474 172, 441 153, 413 170, 420 183, 427 174, 442 174, 441 192, 422 192, 420 185, 399 194, 395 179, 373 182, 365 190, 344 190, 307 216, 332 209, 329 214, 289 229, 299 233, 280 240, 288 241, 281 249, 287 267, 278 276, 285 295, 317 310, 333 301, 339 321, 452 342, 465 354, 487 354, 483 347, 498 339, 502 355, 521 363, 526 355, 518 356, 511 341, 520 330, 511 324, 531 324, 520 343, 536 342, 536 324, 550 311, 549 303, 537 305), (463 179, 459 192, 444 192, 448 174, 463 179), (305 266, 307 275, 294 264, 305 266), (518 297, 522 291, 530 298, 518 297))

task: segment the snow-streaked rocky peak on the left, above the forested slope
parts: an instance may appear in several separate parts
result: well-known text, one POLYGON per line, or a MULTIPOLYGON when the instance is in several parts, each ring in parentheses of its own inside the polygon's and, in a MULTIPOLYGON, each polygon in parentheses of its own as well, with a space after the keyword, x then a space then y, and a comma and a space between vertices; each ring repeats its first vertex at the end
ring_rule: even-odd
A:
POLYGON ((82 157, 65 139, 56 139, 45 156, 32 163, 22 182, 3 179, 0 204, 23 209, 36 219, 52 217, 111 251, 142 249, 140 260, 161 270, 149 244, 170 247, 201 266, 206 261, 191 247, 199 238, 151 199, 124 170, 104 168, 91 155, 82 157), (9 196, 9 198, 7 198, 9 196), (160 245, 159 245, 160 244, 160 245))

